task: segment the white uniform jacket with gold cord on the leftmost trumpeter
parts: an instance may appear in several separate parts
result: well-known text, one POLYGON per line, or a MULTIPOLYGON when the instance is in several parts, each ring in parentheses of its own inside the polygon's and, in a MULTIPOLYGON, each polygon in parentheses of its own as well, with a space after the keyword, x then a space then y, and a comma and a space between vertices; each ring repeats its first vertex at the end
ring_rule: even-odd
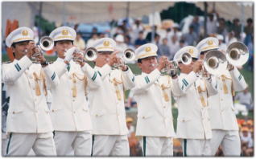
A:
POLYGON ((8 133, 52 132, 45 80, 52 85, 59 83, 56 73, 49 66, 42 68, 39 63, 32 63, 27 55, 2 65, 2 82, 10 94, 8 133))

